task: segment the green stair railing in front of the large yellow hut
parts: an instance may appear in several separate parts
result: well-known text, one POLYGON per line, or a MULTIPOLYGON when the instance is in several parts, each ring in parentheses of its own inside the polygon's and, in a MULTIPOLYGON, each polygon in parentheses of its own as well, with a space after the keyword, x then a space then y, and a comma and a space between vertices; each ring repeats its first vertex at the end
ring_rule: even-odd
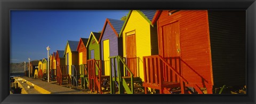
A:
MULTIPOLYGON (((120 62, 122 62, 123 63, 123 65, 124 65, 124 71, 123 72, 125 72, 125 71, 128 71, 129 72, 129 75, 130 75, 130 77, 131 77, 131 93, 133 94, 134 93, 134 91, 133 91, 133 89, 134 89, 134 85, 133 85, 133 73, 132 73, 132 71, 130 70, 130 68, 126 65, 126 63, 124 62, 124 58, 122 58, 120 55, 117 55, 117 56, 115 56, 115 57, 109 57, 110 58, 110 64, 111 64, 111 59, 113 59, 113 62, 115 63, 115 59, 117 60, 117 71, 118 71, 118 77, 119 77, 119 81, 120 82, 122 82, 122 77, 123 76, 125 76, 125 75, 123 75, 122 76, 122 74, 121 74, 121 68, 120 68, 120 62)), ((116 78, 117 76, 116 76, 116 73, 114 73, 114 78, 116 78)), ((111 69, 111 66, 110 66, 110 81, 112 81, 112 69, 111 69)))

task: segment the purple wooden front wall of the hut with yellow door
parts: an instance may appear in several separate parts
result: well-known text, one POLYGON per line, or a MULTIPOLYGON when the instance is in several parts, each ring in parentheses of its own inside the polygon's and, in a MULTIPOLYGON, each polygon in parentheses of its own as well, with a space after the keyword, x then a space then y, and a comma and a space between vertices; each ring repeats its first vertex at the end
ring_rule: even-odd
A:
MULTIPOLYGON (((116 55, 121 55, 118 51, 119 50, 123 50, 123 49, 119 49, 118 45, 122 45, 118 43, 118 37, 116 36, 116 34, 114 33, 114 30, 110 27, 109 23, 107 23, 105 31, 103 33, 102 39, 101 39, 101 58, 103 59, 103 41, 105 41, 106 39, 109 39, 109 55, 110 57, 116 56, 116 55)), ((105 66, 103 64, 103 66, 105 66)), ((111 66, 112 69, 114 69, 114 65, 111 66)), ((116 68, 117 68, 117 63, 116 63, 116 68)), ((109 71, 109 70, 107 70, 109 71)), ((113 71, 114 74, 114 71, 113 71)))

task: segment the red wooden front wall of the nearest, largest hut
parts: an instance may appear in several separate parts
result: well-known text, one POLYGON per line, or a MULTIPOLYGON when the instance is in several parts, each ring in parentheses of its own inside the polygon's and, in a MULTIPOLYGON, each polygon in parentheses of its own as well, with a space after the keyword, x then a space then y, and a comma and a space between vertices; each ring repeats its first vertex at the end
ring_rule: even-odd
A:
POLYGON ((162 26, 179 21, 182 75, 200 87, 212 84, 207 11, 162 11, 158 23, 159 54, 163 56, 162 26), (203 78, 202 78, 202 77, 203 78))

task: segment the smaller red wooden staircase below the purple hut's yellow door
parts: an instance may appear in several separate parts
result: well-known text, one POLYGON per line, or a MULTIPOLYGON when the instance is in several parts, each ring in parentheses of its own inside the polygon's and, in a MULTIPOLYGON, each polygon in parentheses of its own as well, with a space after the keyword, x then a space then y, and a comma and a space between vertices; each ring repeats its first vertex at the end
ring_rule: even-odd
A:
POLYGON ((87 60, 89 89, 103 94, 110 91, 110 78, 102 74, 101 60, 87 60))

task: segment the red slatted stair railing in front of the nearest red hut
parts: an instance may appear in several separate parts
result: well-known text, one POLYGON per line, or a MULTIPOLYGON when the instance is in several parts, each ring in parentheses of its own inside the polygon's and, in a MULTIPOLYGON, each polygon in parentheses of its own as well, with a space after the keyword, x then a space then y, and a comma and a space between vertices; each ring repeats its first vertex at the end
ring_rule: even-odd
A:
POLYGON ((162 86, 164 81, 163 74, 165 73, 163 72, 164 66, 167 66, 167 69, 180 79, 181 92, 184 93, 185 85, 188 84, 188 81, 159 55, 143 57, 144 83, 162 86))

